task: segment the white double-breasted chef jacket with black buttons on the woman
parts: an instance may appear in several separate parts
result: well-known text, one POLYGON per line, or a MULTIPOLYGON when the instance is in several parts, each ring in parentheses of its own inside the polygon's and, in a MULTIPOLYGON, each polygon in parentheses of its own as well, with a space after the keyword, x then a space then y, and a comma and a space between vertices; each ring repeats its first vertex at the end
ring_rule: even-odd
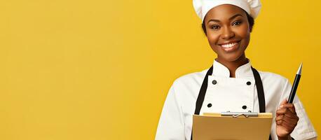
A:
MULTIPOLYGON (((196 99, 207 70, 186 74, 172 84, 158 123, 156 140, 191 139, 196 99)), ((266 112, 273 113, 271 138, 275 140, 278 139, 275 132, 275 112, 282 100, 289 97, 292 85, 287 78, 278 74, 264 71, 259 71, 259 74, 264 87, 266 112)), ((299 122, 291 137, 296 140, 316 139, 317 133, 298 97, 294 98, 294 106, 299 122)), ((250 62, 236 69, 235 78, 230 78, 226 66, 217 61, 213 63, 213 73, 208 77, 207 92, 200 115, 226 111, 259 112, 257 87, 250 62), (217 83, 212 84, 213 80, 217 83), (208 104, 212 106, 209 107, 208 104)))

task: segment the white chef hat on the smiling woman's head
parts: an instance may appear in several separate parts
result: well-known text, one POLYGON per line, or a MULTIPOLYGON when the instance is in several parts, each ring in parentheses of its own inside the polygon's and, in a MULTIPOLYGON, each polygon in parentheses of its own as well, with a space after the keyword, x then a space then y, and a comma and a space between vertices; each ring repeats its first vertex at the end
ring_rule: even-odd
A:
POLYGON ((194 9, 202 22, 209 10, 222 4, 231 4, 243 8, 252 18, 257 18, 261 9, 259 0, 193 0, 194 9))

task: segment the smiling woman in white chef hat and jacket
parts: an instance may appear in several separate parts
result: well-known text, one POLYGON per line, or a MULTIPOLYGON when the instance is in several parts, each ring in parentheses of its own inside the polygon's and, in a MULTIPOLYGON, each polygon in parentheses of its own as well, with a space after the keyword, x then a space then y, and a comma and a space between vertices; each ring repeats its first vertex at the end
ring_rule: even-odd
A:
POLYGON ((252 68, 245 57, 259 0, 193 0, 217 58, 210 69, 175 80, 163 106, 156 139, 191 139, 193 114, 270 112, 270 139, 316 139, 298 97, 287 104, 291 83, 252 68))

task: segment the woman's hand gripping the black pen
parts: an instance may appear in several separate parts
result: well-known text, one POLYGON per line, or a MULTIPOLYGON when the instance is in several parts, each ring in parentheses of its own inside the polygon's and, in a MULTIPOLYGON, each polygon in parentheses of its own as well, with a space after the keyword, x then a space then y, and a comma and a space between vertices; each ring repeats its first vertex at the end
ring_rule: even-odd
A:
POLYGON ((289 134, 292 133, 298 121, 299 117, 296 116, 294 104, 287 104, 286 99, 282 101, 275 118, 276 134, 279 140, 291 139, 289 134))

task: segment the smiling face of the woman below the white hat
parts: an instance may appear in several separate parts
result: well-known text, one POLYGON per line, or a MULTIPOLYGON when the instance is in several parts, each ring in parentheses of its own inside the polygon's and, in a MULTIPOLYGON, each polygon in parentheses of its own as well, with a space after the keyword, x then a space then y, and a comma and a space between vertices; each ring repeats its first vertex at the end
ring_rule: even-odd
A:
POLYGON ((242 8, 230 4, 209 10, 204 19, 207 40, 218 62, 243 61, 250 42, 247 14, 242 8))

